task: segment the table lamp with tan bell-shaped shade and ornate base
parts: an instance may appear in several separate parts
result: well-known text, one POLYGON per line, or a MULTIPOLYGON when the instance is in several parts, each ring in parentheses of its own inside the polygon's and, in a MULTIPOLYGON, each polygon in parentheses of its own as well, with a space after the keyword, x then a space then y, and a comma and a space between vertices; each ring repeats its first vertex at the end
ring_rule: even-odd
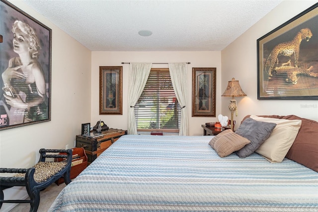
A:
POLYGON ((222 94, 222 97, 232 97, 232 100, 230 100, 230 105, 229 105, 229 109, 231 111, 231 129, 232 130, 234 130, 233 113, 237 110, 237 101, 234 99, 234 97, 243 97, 243 96, 246 96, 246 94, 240 88, 239 81, 232 78, 232 80, 229 81, 228 83, 227 89, 222 94))

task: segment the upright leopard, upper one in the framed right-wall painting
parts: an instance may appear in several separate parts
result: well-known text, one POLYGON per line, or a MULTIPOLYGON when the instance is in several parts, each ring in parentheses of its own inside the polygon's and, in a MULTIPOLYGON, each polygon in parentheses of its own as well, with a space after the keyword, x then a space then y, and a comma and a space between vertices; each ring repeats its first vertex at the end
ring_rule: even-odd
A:
POLYGON ((283 42, 276 45, 271 53, 268 55, 265 62, 265 72, 268 75, 268 79, 272 77, 272 70, 275 63, 278 64, 278 56, 292 56, 294 54, 295 67, 298 68, 299 49, 302 40, 309 41, 313 36, 312 31, 309 28, 301 29, 293 40, 289 42, 283 42))

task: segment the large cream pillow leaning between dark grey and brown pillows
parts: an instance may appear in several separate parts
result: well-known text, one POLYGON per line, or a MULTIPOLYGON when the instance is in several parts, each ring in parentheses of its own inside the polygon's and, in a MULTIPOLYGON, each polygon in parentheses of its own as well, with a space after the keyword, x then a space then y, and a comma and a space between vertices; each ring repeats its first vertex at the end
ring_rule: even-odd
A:
POLYGON ((256 115, 251 115, 250 117, 256 121, 276 123, 271 135, 255 152, 271 163, 282 162, 295 141, 302 120, 265 118, 256 115))

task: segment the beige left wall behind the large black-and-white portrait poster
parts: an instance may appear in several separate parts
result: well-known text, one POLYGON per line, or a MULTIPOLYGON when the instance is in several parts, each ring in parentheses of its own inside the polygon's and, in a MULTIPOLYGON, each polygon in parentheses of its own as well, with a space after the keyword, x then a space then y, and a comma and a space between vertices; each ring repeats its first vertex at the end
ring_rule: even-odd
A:
POLYGON ((12 3, 52 29, 51 121, 0 131, 0 167, 26 168, 40 148, 73 147, 90 121, 91 52, 23 1, 12 3))

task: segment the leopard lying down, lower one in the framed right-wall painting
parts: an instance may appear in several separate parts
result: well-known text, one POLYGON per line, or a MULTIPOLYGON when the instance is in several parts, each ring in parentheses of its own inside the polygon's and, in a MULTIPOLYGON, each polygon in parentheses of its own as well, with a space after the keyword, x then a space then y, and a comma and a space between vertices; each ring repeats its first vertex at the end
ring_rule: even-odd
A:
POLYGON ((273 74, 287 74, 286 82, 297 84, 298 78, 297 75, 303 74, 311 77, 318 77, 318 73, 312 72, 313 66, 308 69, 296 68, 290 65, 275 67, 273 74))

